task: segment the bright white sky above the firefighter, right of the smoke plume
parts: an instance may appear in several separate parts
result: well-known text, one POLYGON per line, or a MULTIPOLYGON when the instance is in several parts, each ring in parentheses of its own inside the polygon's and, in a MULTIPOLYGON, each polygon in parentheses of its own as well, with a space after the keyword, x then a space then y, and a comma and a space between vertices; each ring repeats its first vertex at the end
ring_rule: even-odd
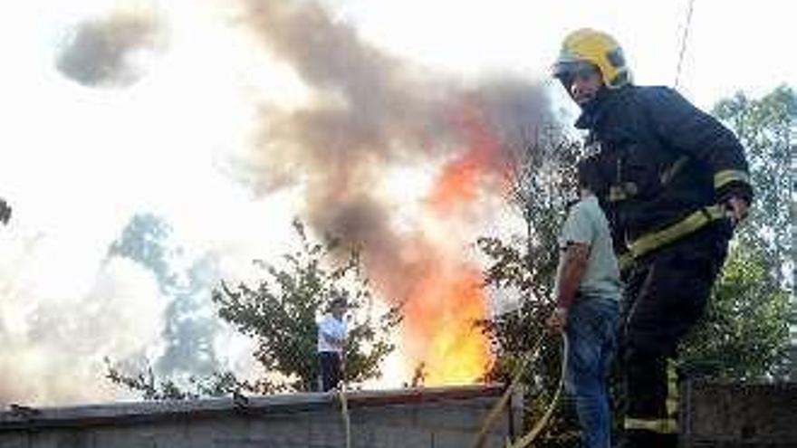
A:
MULTIPOLYGON (((346 10, 362 33, 415 60, 460 74, 512 70, 540 77, 562 36, 591 27, 623 45, 639 84, 672 86, 676 79, 688 0, 673 2, 497 0, 485 2, 352 2, 346 10), (433 36, 430 38, 430 36, 433 36)), ((797 6, 788 2, 695 0, 679 88, 702 108, 743 90, 770 91, 797 80, 783 31, 797 6)))

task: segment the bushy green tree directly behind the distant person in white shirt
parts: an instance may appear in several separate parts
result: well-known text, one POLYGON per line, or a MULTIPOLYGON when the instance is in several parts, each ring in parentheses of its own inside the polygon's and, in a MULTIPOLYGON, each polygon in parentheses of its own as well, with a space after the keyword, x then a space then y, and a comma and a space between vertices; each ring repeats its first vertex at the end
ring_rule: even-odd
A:
POLYGON ((239 283, 228 288, 223 283, 213 295, 219 316, 255 338, 254 357, 265 371, 287 377, 284 386, 289 390, 309 391, 320 374, 316 360, 318 312, 326 309, 333 297, 343 295, 350 316, 344 375, 353 383, 379 377, 380 362, 394 348, 389 331, 399 323, 399 310, 377 312, 356 250, 340 265, 327 269, 325 262, 331 251, 339 249, 339 242, 312 243, 302 224, 294 226, 302 248, 285 255, 282 267, 259 262, 265 278, 254 286, 239 283))

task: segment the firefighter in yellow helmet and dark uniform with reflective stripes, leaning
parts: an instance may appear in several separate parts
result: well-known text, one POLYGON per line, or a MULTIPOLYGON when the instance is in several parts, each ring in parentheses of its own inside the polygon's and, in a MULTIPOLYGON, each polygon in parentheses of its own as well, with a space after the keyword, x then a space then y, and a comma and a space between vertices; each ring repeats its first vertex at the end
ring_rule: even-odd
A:
POLYGON ((706 309, 735 224, 753 199, 744 148, 667 87, 640 87, 617 41, 570 33, 553 75, 581 108, 591 190, 626 280, 622 446, 677 446, 678 343, 706 309))

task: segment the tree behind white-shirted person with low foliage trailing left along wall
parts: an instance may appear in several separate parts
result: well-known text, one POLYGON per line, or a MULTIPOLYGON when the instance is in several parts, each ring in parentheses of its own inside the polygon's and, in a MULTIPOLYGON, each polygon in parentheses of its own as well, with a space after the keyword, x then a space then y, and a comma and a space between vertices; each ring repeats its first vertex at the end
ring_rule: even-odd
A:
POLYGON ((314 390, 320 373, 316 319, 337 294, 348 300, 346 379, 356 384, 379 377, 381 362, 394 349, 390 332, 399 323, 399 310, 378 310, 357 250, 345 249, 334 239, 313 242, 298 221, 294 229, 298 250, 283 255, 279 264, 255 261, 264 273, 261 280, 235 285, 222 281, 213 291, 219 317, 254 338, 253 356, 261 369, 257 379, 247 381, 231 372, 216 372, 210 377, 192 377, 183 385, 158 378, 151 369, 130 375, 110 367, 110 380, 139 391, 145 399, 314 390))

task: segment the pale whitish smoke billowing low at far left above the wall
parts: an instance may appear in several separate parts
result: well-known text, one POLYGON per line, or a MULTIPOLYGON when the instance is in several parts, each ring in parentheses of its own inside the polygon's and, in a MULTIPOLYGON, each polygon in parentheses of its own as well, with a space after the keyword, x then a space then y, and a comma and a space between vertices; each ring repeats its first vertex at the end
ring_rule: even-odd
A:
MULTIPOLYGON (((28 251, 24 257, 47 252, 28 251)), ((155 342, 151 337, 162 326, 164 300, 151 273, 134 262, 110 260, 74 301, 34 291, 24 281, 31 273, 24 265, 34 261, 15 262, 23 269, 0 266, 0 408, 119 396, 116 386, 102 380, 103 358, 135 357, 155 342)))

